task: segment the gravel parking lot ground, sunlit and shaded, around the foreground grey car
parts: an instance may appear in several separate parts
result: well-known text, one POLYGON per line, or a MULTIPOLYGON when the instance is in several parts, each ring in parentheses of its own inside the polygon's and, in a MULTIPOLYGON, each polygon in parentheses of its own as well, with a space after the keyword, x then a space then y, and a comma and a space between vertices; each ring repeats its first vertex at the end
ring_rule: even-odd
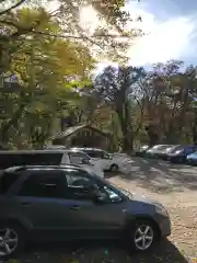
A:
POLYGON ((151 254, 129 254, 120 244, 78 242, 33 244, 21 262, 119 263, 195 262, 197 258, 197 168, 131 158, 124 173, 106 173, 113 183, 164 204, 172 218, 172 236, 151 254))

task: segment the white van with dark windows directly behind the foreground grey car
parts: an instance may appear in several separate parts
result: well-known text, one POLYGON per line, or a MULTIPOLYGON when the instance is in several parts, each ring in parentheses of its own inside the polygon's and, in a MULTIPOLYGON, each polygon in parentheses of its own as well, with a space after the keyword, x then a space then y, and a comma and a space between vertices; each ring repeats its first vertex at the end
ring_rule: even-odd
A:
POLYGON ((104 178, 100 165, 92 162, 91 158, 78 150, 19 150, 0 151, 0 170, 20 165, 63 165, 77 164, 104 178))

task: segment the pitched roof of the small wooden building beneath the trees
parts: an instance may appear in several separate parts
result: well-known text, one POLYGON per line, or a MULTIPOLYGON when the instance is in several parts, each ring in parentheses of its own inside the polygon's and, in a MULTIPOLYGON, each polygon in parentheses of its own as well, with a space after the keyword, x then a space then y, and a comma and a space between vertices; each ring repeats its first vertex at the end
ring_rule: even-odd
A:
POLYGON ((96 129, 95 127, 92 127, 90 125, 83 124, 83 125, 79 125, 79 126, 72 126, 72 127, 67 128, 65 132, 57 133, 55 136, 51 137, 51 139, 61 139, 65 137, 69 137, 70 135, 74 134, 76 132, 78 132, 82 128, 90 128, 96 133, 100 133, 104 137, 109 136, 109 134, 107 134, 107 133, 96 129))

